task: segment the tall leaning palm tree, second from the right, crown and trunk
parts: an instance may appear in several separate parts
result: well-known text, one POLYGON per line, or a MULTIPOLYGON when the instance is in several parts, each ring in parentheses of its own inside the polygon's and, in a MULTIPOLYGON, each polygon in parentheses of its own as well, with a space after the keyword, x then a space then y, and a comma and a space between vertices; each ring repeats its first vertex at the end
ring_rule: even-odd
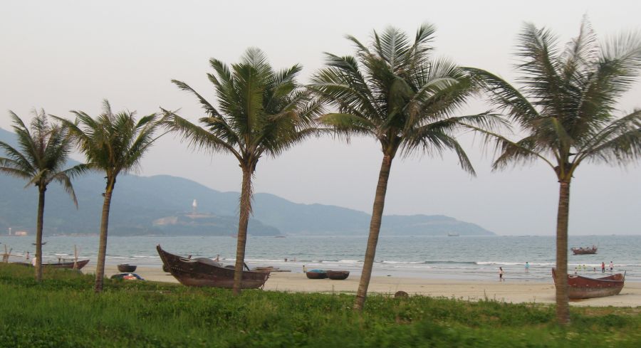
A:
POLYGON ((454 131, 462 127, 462 122, 479 127, 497 122, 489 114, 450 117, 464 105, 474 86, 456 64, 430 56, 433 35, 434 26, 424 24, 413 42, 397 28, 387 28, 380 35, 374 31, 369 46, 347 36, 355 44, 356 55, 325 53, 327 67, 313 77, 310 85, 338 111, 320 117, 323 124, 345 136, 374 137, 383 154, 355 310, 363 309, 367 296, 387 179, 397 152, 440 154, 452 149, 461 167, 474 174, 454 131))

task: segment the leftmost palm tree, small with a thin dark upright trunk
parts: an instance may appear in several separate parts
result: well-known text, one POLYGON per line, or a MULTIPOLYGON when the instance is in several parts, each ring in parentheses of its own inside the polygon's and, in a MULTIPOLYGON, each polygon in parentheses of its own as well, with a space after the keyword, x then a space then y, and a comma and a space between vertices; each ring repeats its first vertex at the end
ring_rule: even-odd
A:
MULTIPOLYGON (((42 230, 44 218, 45 192, 51 181, 58 181, 78 207, 71 178, 84 172, 83 164, 63 169, 69 152, 73 149, 68 130, 60 125, 48 122, 44 110, 34 110, 30 127, 13 111, 9 115, 14 123, 14 132, 18 137, 19 148, 15 149, 5 142, 0 142, 7 157, 0 157, 0 172, 27 180, 26 186, 38 188, 38 221, 36 222, 36 280, 42 280, 42 230)), ((26 187, 25 186, 25 187, 26 187)))

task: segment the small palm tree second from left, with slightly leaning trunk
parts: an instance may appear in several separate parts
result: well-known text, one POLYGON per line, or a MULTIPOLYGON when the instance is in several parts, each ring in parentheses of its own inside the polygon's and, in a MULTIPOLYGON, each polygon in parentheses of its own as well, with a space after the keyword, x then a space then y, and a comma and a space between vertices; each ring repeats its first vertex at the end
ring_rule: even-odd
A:
POLYGON ((78 149, 87 159, 88 169, 105 173, 105 199, 100 220, 100 245, 94 285, 95 292, 101 292, 105 275, 109 211, 116 178, 119 174, 135 172, 140 168, 142 156, 158 139, 155 132, 162 124, 162 118, 151 114, 136 122, 135 112, 122 111, 114 114, 108 100, 103 102, 103 113, 95 118, 82 111, 71 112, 76 117, 75 122, 56 118, 69 128, 78 149))

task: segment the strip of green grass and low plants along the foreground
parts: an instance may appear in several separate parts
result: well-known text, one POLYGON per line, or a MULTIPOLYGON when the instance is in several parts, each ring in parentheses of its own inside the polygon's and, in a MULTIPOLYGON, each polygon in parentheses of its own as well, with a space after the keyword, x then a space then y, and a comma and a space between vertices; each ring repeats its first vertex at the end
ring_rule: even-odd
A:
POLYGON ((0 264, 0 347, 641 347, 637 308, 214 288, 93 277, 0 264))

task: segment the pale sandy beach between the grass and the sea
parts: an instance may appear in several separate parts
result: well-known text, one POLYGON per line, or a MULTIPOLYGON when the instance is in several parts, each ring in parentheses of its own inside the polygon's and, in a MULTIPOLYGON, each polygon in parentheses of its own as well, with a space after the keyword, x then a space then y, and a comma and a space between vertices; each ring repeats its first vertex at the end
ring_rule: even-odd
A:
MULTIPOLYGON (((95 269, 89 267, 85 273, 93 273, 95 269)), ((118 272, 115 265, 105 268, 105 275, 110 277, 118 272)), ((145 280, 178 283, 177 280, 159 268, 142 267, 136 272, 145 280)), ((264 290, 289 291, 289 292, 348 292, 353 293, 358 289, 359 275, 350 275, 346 280, 312 280, 303 273, 275 272, 271 273, 265 284, 264 290)), ((479 282, 465 280, 438 280, 422 278, 399 277, 372 277, 370 292, 381 294, 394 294, 402 290, 410 295, 424 295, 432 297, 449 297, 462 300, 482 300, 489 298, 501 302, 536 302, 554 303, 554 285, 550 282, 538 281, 510 281, 503 283, 479 282)), ((625 287, 617 296, 600 297, 588 300, 570 301, 575 306, 616 306, 637 307, 641 305, 641 283, 625 283, 625 287)))

